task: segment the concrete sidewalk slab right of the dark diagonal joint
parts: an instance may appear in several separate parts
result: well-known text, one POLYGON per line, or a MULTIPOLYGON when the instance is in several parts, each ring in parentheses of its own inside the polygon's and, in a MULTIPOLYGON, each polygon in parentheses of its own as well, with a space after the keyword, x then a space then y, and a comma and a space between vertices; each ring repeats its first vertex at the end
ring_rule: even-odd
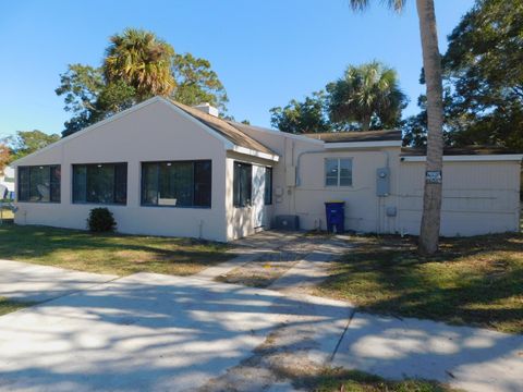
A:
POLYGON ((523 335, 355 313, 332 366, 471 392, 521 392, 523 335))

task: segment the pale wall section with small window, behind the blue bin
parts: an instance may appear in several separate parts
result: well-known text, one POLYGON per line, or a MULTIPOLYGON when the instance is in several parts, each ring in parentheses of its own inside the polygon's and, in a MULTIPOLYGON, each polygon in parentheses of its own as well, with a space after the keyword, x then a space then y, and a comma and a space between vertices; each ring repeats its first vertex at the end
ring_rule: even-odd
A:
POLYGON ((324 143, 275 131, 252 130, 250 136, 277 154, 273 171, 273 211, 297 215, 304 230, 325 230, 325 201, 345 201, 345 230, 388 232, 398 230, 397 217, 387 218, 386 207, 397 206, 399 147, 326 150, 324 143), (353 186, 326 187, 325 159, 352 158, 353 186), (376 196, 376 169, 390 167, 390 195, 376 196), (294 173, 296 181, 294 182, 294 173), (294 184, 297 183, 297 186, 294 184))

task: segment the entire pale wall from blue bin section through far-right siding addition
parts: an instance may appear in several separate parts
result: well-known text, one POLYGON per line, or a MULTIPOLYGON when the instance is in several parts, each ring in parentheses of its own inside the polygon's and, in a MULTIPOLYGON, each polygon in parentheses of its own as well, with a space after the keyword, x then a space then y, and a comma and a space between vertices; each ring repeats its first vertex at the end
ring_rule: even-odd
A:
MULTIPOLYGON (((344 200, 348 230, 419 233, 425 162, 402 162, 399 146, 332 150, 320 142, 275 131, 247 133, 281 156, 273 172, 273 217, 297 215, 302 229, 325 230, 324 203, 344 200), (376 170, 387 167, 387 157, 390 194, 378 197, 376 170), (326 158, 352 158, 352 186, 325 186, 326 158), (288 181, 294 171, 297 186, 288 181), (396 207, 396 216, 387 216, 388 207, 396 207)), ((441 234, 519 231, 520 170, 520 161, 445 161, 441 234)))

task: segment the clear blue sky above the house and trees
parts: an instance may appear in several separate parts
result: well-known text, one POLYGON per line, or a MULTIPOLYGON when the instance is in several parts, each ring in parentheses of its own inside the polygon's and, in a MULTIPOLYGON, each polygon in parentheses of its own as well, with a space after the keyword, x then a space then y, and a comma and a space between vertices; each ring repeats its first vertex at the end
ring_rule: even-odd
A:
MULTIPOLYGON (((436 0, 440 49, 473 0, 436 0)), ((125 27, 155 32, 177 52, 208 59, 236 120, 269 126, 269 109, 324 86, 348 64, 393 66, 417 112, 422 65, 415 1, 397 15, 374 1, 354 13, 346 0, 171 0, 0 2, 0 137, 59 133, 69 113, 56 96, 69 63, 99 65, 108 37, 125 27)))

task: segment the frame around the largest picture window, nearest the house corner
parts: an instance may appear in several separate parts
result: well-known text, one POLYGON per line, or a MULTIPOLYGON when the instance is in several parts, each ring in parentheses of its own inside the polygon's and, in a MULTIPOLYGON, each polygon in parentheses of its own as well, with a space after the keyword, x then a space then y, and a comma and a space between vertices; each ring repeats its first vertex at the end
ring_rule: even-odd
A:
POLYGON ((187 160, 162 160, 162 161, 143 161, 139 162, 139 206, 141 207, 153 207, 153 208, 196 208, 196 209, 211 209, 212 208, 212 159, 187 159, 187 160), (197 162, 209 162, 210 163, 210 170, 209 170, 209 205, 204 206, 204 205, 195 205, 195 199, 196 199, 196 181, 195 181, 195 163, 197 162), (145 181, 145 175, 144 175, 144 166, 146 164, 156 164, 157 170, 156 170, 156 189, 158 192, 159 186, 160 186, 160 173, 159 173, 159 168, 160 164, 162 163, 192 163, 193 167, 193 204, 191 206, 179 206, 179 205, 160 205, 158 203, 153 204, 153 203, 145 203, 144 201, 144 194, 145 194, 145 188, 144 188, 144 181, 145 181))

